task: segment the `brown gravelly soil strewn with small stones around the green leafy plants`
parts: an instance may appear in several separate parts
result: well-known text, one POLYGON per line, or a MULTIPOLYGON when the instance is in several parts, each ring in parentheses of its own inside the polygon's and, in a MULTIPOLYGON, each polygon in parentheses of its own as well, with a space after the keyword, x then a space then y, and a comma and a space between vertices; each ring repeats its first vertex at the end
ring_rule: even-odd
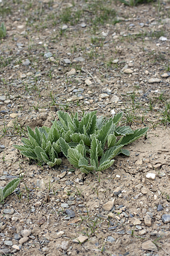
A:
POLYGON ((2 0, 3 21, 0 186, 22 181, 0 205, 0 254, 170 255, 169 1, 2 0), (65 158, 58 169, 30 164, 13 144, 60 109, 123 111, 122 123, 150 130, 100 182, 70 174, 65 158))

